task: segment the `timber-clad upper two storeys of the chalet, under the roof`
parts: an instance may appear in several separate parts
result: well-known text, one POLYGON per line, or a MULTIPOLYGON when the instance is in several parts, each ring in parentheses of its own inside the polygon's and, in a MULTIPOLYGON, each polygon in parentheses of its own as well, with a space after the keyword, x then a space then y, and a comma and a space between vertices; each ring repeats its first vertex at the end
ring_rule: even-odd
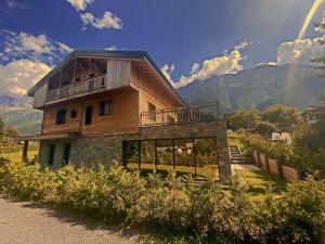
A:
MULTIPOLYGON (((83 89, 84 92, 74 93, 74 88, 80 82, 72 82, 54 90, 60 94, 62 89, 68 89, 68 95, 51 100, 47 100, 47 94, 53 93, 48 90, 47 82, 36 90, 34 106, 44 111, 42 134, 77 132, 88 137, 134 133, 140 127, 141 113, 147 112, 150 106, 162 110, 184 105, 146 61, 107 59, 106 62, 105 89, 83 89), (100 116, 102 101, 112 102, 110 115, 100 116), (91 125, 86 125, 87 107, 92 107, 91 125), (65 110, 66 115, 65 121, 57 125, 60 110, 65 110)), ((83 73, 75 76, 84 78, 83 73)))

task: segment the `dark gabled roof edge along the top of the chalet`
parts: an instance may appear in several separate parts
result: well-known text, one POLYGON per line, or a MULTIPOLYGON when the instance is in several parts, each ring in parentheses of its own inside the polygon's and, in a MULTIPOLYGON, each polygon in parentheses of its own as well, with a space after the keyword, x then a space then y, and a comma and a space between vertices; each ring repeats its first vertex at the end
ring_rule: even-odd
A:
POLYGON ((143 59, 146 60, 169 86, 177 97, 185 104, 183 99, 178 94, 171 84, 168 81, 166 76, 162 74, 160 68, 155 64, 153 59, 145 51, 108 51, 108 50, 75 50, 66 59, 64 59, 58 65, 56 65, 50 73, 48 73, 40 81, 38 81, 32 88, 29 89, 27 95, 32 97, 36 89, 42 86, 49 80, 58 69, 66 65, 69 61, 77 56, 100 56, 100 57, 118 57, 118 59, 143 59))

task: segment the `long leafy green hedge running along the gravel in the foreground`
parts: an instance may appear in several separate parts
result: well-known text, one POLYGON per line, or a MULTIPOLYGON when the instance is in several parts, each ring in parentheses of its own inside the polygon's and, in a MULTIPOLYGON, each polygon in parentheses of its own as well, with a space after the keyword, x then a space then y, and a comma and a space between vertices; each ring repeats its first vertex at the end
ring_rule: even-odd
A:
MULTIPOLYGON (((56 172, 0 160, 0 189, 17 200, 54 201, 110 221, 162 234, 161 243, 322 243, 325 182, 308 178, 280 198, 258 202, 232 179, 227 190, 211 179, 170 172, 140 178, 114 165, 107 169, 68 165, 56 172), (170 237, 169 237, 170 236, 170 237)), ((147 237, 144 243, 157 239, 147 237)))

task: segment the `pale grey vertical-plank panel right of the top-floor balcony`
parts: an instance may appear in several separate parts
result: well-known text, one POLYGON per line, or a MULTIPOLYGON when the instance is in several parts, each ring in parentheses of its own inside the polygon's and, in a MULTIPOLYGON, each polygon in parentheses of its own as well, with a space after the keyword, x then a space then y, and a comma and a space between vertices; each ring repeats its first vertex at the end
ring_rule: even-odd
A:
POLYGON ((130 86, 131 61, 107 60, 106 88, 116 89, 130 86))

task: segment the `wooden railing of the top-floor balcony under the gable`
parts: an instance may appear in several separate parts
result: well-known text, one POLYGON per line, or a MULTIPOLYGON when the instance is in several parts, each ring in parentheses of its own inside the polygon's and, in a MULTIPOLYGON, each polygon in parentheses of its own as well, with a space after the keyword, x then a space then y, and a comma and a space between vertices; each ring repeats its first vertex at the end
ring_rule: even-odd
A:
POLYGON ((106 88, 106 76, 100 76, 48 91, 47 102, 106 88))

